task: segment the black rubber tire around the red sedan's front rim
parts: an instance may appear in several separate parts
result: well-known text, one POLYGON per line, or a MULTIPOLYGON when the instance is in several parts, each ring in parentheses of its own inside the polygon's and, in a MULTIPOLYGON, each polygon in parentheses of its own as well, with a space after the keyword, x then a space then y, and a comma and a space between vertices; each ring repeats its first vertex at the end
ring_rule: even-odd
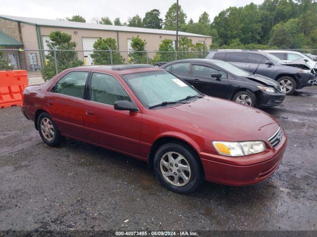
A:
MULTIPOLYGON (((166 169, 166 166, 164 167, 166 169)), ((203 170, 203 166, 200 159, 197 157, 196 154, 194 154, 194 152, 191 152, 190 147, 188 147, 185 144, 167 143, 159 147, 159 149, 157 150, 154 156, 154 170, 159 179, 159 182, 168 190, 178 194, 192 193, 204 181, 204 170, 203 170), (171 183, 172 176, 165 178, 165 176, 163 175, 163 171, 162 171, 163 168, 161 169, 160 162, 161 162, 161 159, 164 159, 164 157, 166 158, 167 155, 166 156, 164 155, 167 153, 173 153, 172 157, 176 155, 175 153, 177 153, 184 158, 182 159, 181 156, 176 156, 176 157, 174 156, 175 158, 174 161, 177 161, 177 158, 181 158, 181 160, 179 162, 174 163, 173 166, 169 165, 169 168, 172 168, 173 172, 170 172, 170 171, 165 172, 166 175, 167 173, 171 175, 176 174, 176 175, 173 175, 173 177, 177 177, 177 182, 179 186, 171 183), (184 165, 184 163, 186 164, 185 161, 187 162, 188 165, 184 165), (179 165, 176 166, 176 164, 179 164, 179 165), (178 171, 181 169, 180 168, 181 166, 187 167, 187 169, 189 166, 190 172, 184 169, 182 169, 181 171, 178 171), (188 180, 186 181, 182 179, 182 177, 185 177, 183 176, 184 174, 188 178, 188 180), (182 182, 182 180, 184 182, 182 182)))

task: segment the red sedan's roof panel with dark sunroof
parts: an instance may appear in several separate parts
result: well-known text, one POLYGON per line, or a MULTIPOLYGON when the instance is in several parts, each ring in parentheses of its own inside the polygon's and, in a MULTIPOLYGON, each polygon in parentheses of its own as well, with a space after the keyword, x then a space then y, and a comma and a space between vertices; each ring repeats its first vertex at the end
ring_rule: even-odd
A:
POLYGON ((81 70, 93 71, 98 70, 99 72, 108 73, 109 71, 119 75, 151 72, 151 71, 164 71, 161 68, 154 67, 146 64, 123 64, 123 65, 100 65, 100 66, 83 66, 78 67, 81 70))

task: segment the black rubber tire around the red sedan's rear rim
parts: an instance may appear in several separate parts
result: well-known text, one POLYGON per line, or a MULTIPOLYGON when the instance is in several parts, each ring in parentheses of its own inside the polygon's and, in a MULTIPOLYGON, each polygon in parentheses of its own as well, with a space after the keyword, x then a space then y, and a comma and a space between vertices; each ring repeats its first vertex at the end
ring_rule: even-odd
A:
POLYGON ((48 144, 49 146, 55 147, 65 140, 65 137, 60 135, 60 132, 57 129, 56 125, 54 124, 52 117, 48 113, 43 112, 42 114, 40 114, 37 123, 38 123, 38 129, 39 129, 39 133, 40 133, 42 140, 46 144, 48 144), (49 120, 49 122, 51 124, 50 126, 52 126, 52 128, 42 129, 41 122, 43 121, 45 123, 48 120, 49 120), (45 135, 44 130, 47 131, 47 134, 49 134, 49 135, 45 135), (53 130, 53 135, 48 130, 51 130, 51 131, 53 130), (50 139, 51 136, 52 136, 52 139, 50 139))

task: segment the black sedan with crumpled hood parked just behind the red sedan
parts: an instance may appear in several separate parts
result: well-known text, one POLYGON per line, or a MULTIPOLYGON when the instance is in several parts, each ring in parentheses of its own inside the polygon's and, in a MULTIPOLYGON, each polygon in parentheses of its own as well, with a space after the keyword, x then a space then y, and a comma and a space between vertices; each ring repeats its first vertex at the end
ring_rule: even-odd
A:
POLYGON ((252 107, 277 106, 285 98, 285 93, 275 80, 253 75, 220 60, 184 59, 160 68, 187 81, 206 95, 252 107))

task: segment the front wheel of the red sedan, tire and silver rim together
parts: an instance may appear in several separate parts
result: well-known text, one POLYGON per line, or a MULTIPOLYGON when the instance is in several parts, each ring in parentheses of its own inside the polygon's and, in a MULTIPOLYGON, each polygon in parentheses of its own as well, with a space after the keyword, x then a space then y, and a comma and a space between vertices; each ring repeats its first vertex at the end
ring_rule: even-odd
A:
POLYGON ((200 160, 180 144, 162 145, 155 154, 154 167, 160 183, 175 193, 194 192, 204 181, 200 160))

